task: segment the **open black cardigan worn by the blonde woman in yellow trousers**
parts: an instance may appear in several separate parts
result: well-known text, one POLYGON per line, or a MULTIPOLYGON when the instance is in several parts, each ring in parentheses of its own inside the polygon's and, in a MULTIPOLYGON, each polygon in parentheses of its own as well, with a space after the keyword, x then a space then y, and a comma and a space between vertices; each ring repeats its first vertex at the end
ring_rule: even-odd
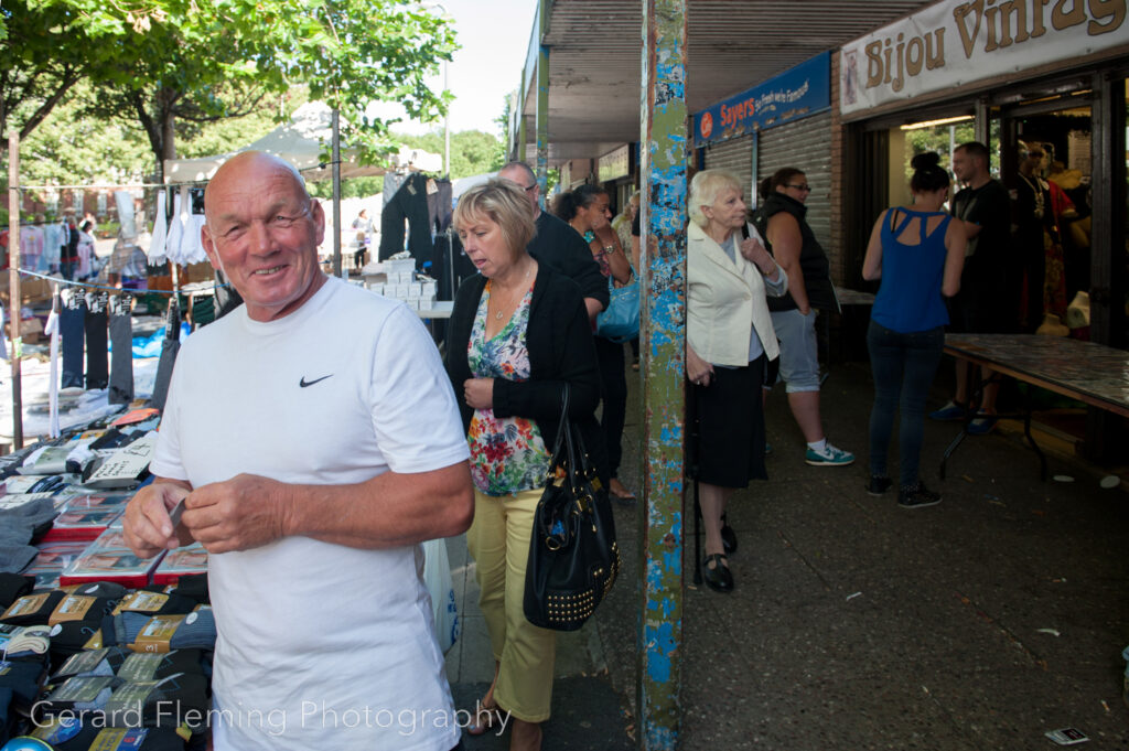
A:
MULTIPOLYGON (((481 274, 463 281, 447 325, 445 365, 455 388, 463 429, 470 428, 474 414, 463 398, 463 382, 473 377, 466 348, 485 283, 487 279, 481 274)), ((537 264, 525 344, 530 350, 530 379, 495 378, 495 414, 519 416, 536 421, 545 447, 552 451, 560 425, 561 391, 568 383, 569 417, 579 429, 599 478, 606 483, 606 454, 595 417, 599 402, 599 367, 592 324, 580 288, 545 263, 537 264)))

